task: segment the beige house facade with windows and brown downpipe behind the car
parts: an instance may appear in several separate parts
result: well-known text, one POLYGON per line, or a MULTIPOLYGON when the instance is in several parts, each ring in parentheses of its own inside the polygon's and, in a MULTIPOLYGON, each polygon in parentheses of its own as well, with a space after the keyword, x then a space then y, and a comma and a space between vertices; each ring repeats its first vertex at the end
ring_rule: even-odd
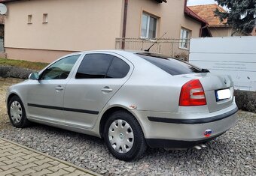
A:
MULTIPOLYGON (((5 52, 50 62, 70 52, 114 49, 120 37, 200 37, 203 21, 184 14, 184 0, 2 0, 5 52)), ((179 49, 187 50, 184 44, 179 49)))

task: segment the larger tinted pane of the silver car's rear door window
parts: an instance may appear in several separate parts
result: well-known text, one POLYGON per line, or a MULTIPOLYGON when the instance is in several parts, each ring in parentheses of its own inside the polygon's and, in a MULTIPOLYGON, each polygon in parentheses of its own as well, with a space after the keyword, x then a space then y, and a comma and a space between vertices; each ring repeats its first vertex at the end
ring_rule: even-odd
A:
POLYGON ((76 79, 97 79, 105 78, 108 68, 113 59, 113 55, 107 54, 87 54, 81 62, 76 79))

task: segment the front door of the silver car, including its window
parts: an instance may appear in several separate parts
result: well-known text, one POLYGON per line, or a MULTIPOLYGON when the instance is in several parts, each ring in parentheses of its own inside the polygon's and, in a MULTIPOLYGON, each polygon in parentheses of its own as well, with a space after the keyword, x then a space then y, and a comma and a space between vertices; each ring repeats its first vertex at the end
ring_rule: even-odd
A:
POLYGON ((39 121, 62 124, 63 96, 70 72, 80 55, 62 58, 47 67, 40 74, 39 80, 30 80, 28 88, 28 115, 39 121))

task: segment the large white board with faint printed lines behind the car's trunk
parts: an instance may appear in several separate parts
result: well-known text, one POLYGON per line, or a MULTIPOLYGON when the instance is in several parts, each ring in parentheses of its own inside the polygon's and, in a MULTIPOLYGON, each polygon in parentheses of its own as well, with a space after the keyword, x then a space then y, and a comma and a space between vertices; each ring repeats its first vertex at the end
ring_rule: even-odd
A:
POLYGON ((256 37, 191 39, 189 62, 211 73, 230 75, 235 89, 256 91, 256 37))

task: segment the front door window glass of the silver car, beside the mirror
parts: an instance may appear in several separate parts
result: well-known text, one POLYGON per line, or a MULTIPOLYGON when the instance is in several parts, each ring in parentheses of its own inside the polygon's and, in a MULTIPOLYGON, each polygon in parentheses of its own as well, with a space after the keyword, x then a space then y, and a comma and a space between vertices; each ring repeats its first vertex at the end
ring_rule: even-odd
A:
POLYGON ((56 61, 44 70, 41 79, 66 79, 79 57, 80 55, 72 55, 56 61))

